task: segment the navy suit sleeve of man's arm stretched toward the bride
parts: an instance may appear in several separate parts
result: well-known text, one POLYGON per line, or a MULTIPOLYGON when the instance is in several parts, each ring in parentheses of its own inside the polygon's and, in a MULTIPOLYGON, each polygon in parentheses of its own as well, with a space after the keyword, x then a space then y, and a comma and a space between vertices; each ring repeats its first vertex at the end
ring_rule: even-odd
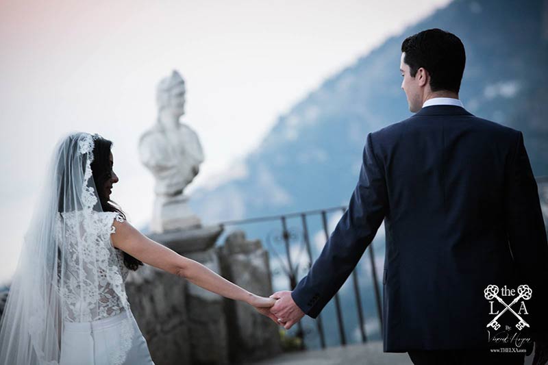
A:
POLYGON ((388 207, 384 171, 377 163, 371 133, 367 135, 358 184, 348 209, 338 221, 320 256, 303 277, 292 298, 316 318, 358 264, 381 225, 388 207))

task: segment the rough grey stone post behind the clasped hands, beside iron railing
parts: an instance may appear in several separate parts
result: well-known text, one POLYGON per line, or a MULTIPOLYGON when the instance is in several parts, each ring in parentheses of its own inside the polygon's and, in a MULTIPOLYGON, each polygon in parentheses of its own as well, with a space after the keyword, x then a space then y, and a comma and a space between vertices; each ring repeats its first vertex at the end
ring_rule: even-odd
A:
MULTIPOLYGON (((272 291, 269 253, 260 240, 248 241, 242 231, 230 234, 218 248, 223 277, 263 297, 272 291)), ((230 360, 242 364, 281 353, 278 327, 250 305, 225 300, 230 360)))

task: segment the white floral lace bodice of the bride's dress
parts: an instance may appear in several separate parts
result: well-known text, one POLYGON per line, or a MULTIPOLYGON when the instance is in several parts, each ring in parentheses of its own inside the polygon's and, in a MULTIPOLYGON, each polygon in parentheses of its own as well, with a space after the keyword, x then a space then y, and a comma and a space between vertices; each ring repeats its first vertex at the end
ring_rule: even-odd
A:
POLYGON ((115 212, 66 212, 58 214, 55 240, 64 260, 58 273, 63 319, 90 322, 120 314, 127 301, 124 281, 128 270, 123 252, 114 249, 115 212))

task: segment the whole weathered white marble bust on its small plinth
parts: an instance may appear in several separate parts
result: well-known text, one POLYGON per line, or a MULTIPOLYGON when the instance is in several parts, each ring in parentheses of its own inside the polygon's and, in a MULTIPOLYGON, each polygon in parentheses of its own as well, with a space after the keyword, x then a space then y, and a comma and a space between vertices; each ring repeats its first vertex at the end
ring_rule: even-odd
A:
POLYGON ((158 121, 139 140, 139 155, 155 178, 151 230, 161 233, 200 225, 184 189, 199 173, 203 150, 195 131, 179 122, 184 115, 185 83, 177 71, 156 90, 158 121))

